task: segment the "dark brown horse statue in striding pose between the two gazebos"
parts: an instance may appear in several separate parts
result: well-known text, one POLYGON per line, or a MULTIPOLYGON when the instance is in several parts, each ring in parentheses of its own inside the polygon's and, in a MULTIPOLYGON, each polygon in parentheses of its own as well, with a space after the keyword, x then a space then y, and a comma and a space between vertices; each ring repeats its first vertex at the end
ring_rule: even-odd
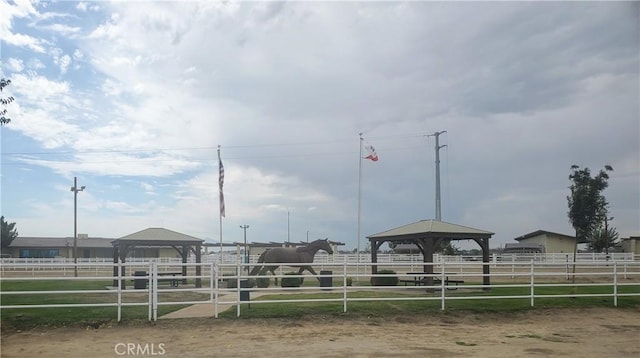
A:
MULTIPOLYGON (((276 268, 281 266, 281 264, 285 264, 285 266, 291 267, 299 267, 298 275, 301 275, 304 270, 311 272, 313 275, 318 275, 313 267, 310 265, 295 265, 296 263, 300 264, 308 264, 313 262, 313 257, 316 255, 318 250, 325 250, 329 254, 333 254, 333 250, 331 249, 331 245, 329 245, 328 239, 323 240, 315 240, 310 242, 307 246, 300 247, 275 247, 271 249, 267 249, 263 252, 260 257, 258 257, 259 264, 265 265, 257 265, 253 267, 251 273, 252 276, 257 274, 264 275, 267 271, 271 271, 271 274, 275 276, 276 268), (271 265, 266 265, 271 264, 271 265), (273 265, 275 264, 275 265, 273 265)), ((275 278, 276 285, 278 285, 278 278, 275 278)), ((320 279, 318 278, 318 281, 320 279)))

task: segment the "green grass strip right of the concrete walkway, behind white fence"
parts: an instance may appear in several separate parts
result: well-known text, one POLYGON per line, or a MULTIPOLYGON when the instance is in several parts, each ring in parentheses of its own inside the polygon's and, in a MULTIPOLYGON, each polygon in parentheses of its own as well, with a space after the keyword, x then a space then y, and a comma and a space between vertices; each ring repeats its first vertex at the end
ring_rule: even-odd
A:
MULTIPOLYGON (((611 287, 606 286, 585 286, 576 287, 575 292, 572 287, 542 287, 536 289, 536 294, 603 294, 611 293, 611 287)), ((640 285, 619 287, 619 293, 640 293, 640 285)), ((412 293, 391 292, 391 291, 351 291, 349 298, 411 298, 416 295, 424 295, 424 291, 416 289, 412 293)), ((490 291, 470 291, 451 290, 447 291, 447 297, 456 296, 487 297, 487 299, 460 299, 447 300, 447 311, 461 311, 473 313, 506 313, 518 312, 532 309, 530 299, 491 299, 491 296, 523 296, 529 294, 528 287, 496 287, 490 291)), ((439 291, 431 295, 439 298, 439 291)), ((342 298, 342 293, 317 293, 317 294, 295 294, 295 299, 336 299, 342 298)), ((253 302, 260 300, 287 300, 292 299, 291 294, 287 295, 264 295, 257 297, 253 302)), ((577 297, 577 298, 536 298, 534 309, 541 308, 577 308, 577 307, 614 307, 613 297, 577 297)), ((618 297, 618 307, 620 308, 640 308, 640 296, 638 297, 618 297)), ((441 301, 437 300, 394 300, 394 301, 359 301, 348 302, 347 313, 343 313, 342 302, 305 302, 305 303, 256 303, 249 308, 247 305, 241 306, 241 318, 298 318, 306 315, 330 315, 330 316, 379 316, 391 317, 397 315, 424 315, 441 312, 441 301)), ((219 317, 236 317, 236 308, 221 312, 219 317)))

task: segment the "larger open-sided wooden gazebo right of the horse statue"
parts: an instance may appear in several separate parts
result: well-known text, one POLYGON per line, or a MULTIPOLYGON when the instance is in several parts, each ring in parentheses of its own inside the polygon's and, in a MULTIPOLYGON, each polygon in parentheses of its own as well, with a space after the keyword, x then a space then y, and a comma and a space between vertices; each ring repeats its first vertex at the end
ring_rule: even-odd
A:
MULTIPOLYGON (((423 256, 423 272, 433 273, 433 253, 437 245, 443 240, 473 240, 482 249, 482 262, 489 262, 489 239, 494 233, 467 226, 451 224, 439 220, 421 220, 412 224, 397 227, 368 236, 371 243, 371 263, 378 262, 378 249, 385 242, 415 244, 423 256)), ((372 265, 372 274, 378 272, 377 265, 372 265)), ((482 266, 484 285, 490 284, 489 265, 482 266)), ((427 277, 427 284, 433 284, 433 277, 427 277)))

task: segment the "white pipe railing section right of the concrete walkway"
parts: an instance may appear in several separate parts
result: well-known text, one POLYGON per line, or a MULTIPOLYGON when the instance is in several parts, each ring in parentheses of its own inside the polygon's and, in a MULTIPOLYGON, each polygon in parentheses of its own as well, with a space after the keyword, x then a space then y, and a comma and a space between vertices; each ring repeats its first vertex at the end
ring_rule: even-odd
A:
MULTIPOLYGON (((286 264, 285 264, 286 265, 286 264)), ((371 264, 367 264, 371 265, 371 264)), ((424 268, 424 263, 420 263, 419 267, 424 268)), ((399 263, 392 264, 377 264, 378 271, 383 269, 396 270, 395 276, 404 276, 407 282, 414 282, 414 279, 420 276, 421 278, 430 277, 432 279, 431 285, 425 286, 349 286, 347 284, 348 278, 352 281, 361 282, 363 279, 365 282, 369 281, 372 277, 382 277, 383 275, 376 275, 369 270, 363 269, 362 264, 343 262, 324 264, 324 272, 321 272, 319 276, 320 280, 330 278, 336 278, 341 281, 340 285, 330 285, 330 287, 295 287, 295 288, 283 288, 283 287, 247 287, 242 285, 242 281, 249 279, 258 279, 259 277, 269 277, 270 275, 262 276, 249 276, 246 272, 246 265, 241 263, 237 265, 220 265, 219 270, 216 272, 216 282, 223 280, 224 278, 219 275, 220 272, 241 272, 239 275, 227 276, 227 280, 235 280, 236 284, 234 288, 224 289, 216 288, 216 309, 215 317, 218 317, 219 305, 235 305, 237 310, 237 316, 241 314, 241 307, 250 303, 265 304, 265 303, 297 303, 297 302, 342 302, 343 311, 347 312, 349 302, 358 301, 440 301, 441 309, 446 308, 447 301, 451 300, 469 300, 469 299, 487 299, 487 300, 499 300, 499 299, 528 299, 530 305, 534 306, 536 299, 543 298, 562 298, 562 297, 613 297, 613 305, 618 305, 619 297, 638 296, 640 297, 640 262, 637 261, 610 261, 608 265, 602 265, 599 261, 581 261, 577 263, 576 270, 573 270, 573 263, 567 265, 566 263, 556 264, 547 262, 511 262, 511 263, 472 263, 472 262, 458 262, 449 263, 446 260, 441 262, 426 264, 431 267, 433 274, 417 273, 415 272, 415 263, 399 263), (330 270, 332 271, 326 271, 330 270), (485 273, 484 270, 490 269, 491 273, 485 273), (369 271, 369 272, 367 272, 369 271), (575 280, 573 280, 575 278, 575 280), (571 279, 571 280, 570 280, 571 279), (486 281, 485 281, 486 280, 486 281), (490 283, 491 281, 497 281, 490 283), (575 282, 577 281, 577 282, 575 282), (434 282, 439 282, 434 284, 434 282), (461 286, 450 286, 449 284, 462 283, 461 286), (607 293, 570 293, 570 294, 541 294, 536 292, 536 289, 541 287, 598 287, 605 286, 611 288, 607 293), (633 292, 619 292, 621 287, 634 286, 636 289, 633 292), (522 295, 479 295, 478 290, 481 292, 491 291, 492 289, 504 289, 504 288, 529 288, 529 292, 522 295), (318 291, 341 293, 342 297, 332 298, 318 298, 318 299, 296 299, 295 295, 292 295, 292 299, 277 299, 266 300, 260 299, 257 301, 251 301, 250 294, 286 294, 291 291, 301 293, 305 291, 318 291), (420 290, 422 293, 424 290, 432 291, 430 294, 410 295, 407 297, 397 297, 397 295, 370 297, 370 298, 355 298, 349 297, 350 292, 354 291, 401 291, 407 292, 411 290, 420 290), (458 291, 458 289, 460 289, 458 291), (452 290, 456 290, 455 295, 449 294, 452 290), (218 298, 218 294, 221 292, 235 292, 235 299, 233 301, 223 301, 218 298), (460 294, 461 293, 461 294, 460 294)), ((310 275, 291 275, 282 272, 280 268, 275 277, 283 279, 285 277, 302 277, 305 279, 314 279, 310 275)), ((429 283, 426 281, 425 283, 429 283)), ((405 282, 406 285, 406 282, 405 282)), ((415 292, 415 291, 414 291, 415 292)))

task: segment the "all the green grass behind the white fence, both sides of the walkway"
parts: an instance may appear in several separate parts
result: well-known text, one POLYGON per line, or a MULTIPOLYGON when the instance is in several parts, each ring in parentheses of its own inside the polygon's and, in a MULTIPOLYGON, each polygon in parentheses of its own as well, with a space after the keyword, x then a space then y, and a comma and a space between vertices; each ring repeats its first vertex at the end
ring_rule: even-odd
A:
MULTIPOLYGON (((341 280, 333 280, 334 286, 341 284, 341 280)), ((50 291, 50 290, 107 290, 112 281, 91 280, 55 280, 55 281, 0 281, 0 290, 7 291, 50 291)), ((318 287, 317 280, 305 280, 304 286, 318 287), (307 282, 309 281, 309 282, 307 282)), ((424 289, 416 288, 406 291, 368 291, 368 287, 362 284, 363 290, 349 291, 349 298, 410 298, 424 297, 425 295, 439 298, 440 292, 425 293, 424 289)), ((271 286, 273 287, 273 285, 271 286)), ((447 311, 473 312, 473 313, 507 313, 531 309, 529 298, 519 299, 489 299, 491 296, 515 296, 528 295, 529 287, 494 287, 490 291, 465 290, 460 286, 458 290, 446 291, 447 297, 474 295, 487 297, 487 299, 461 299, 447 300, 447 311)), ((123 296, 124 302, 147 302, 148 294, 127 290, 123 296)), ((606 294, 612 292, 611 286, 584 286, 584 287, 538 287, 536 294, 561 295, 561 294, 606 294)), ((640 293, 640 284, 634 286, 622 286, 619 293, 640 293)), ((176 292, 161 293, 160 301, 178 300, 204 300, 208 298, 206 293, 176 292)), ((252 299, 252 302, 260 300, 287 300, 295 295, 295 299, 341 299, 342 292, 300 293, 264 295, 252 299)), ((113 294, 37 294, 37 295, 2 295, 2 305, 20 304, 53 304, 53 303, 100 303, 116 302, 117 296, 113 294)), ((184 305, 161 305, 158 307, 158 315, 183 308, 184 305)), ((578 298, 536 298, 535 309, 539 308, 564 308, 564 307, 614 307, 612 297, 578 297, 578 298)), ((640 308, 640 297, 619 297, 618 307, 640 308)), ((308 303, 255 303, 249 308, 241 306, 242 318, 297 318, 307 315, 329 315, 336 317, 391 317, 398 315, 425 315, 439 314, 441 312, 440 300, 417 301, 362 301, 348 302, 348 312, 343 313, 342 302, 308 302, 308 303)), ((29 329, 35 326, 101 326, 114 323, 117 318, 116 307, 72 307, 72 308, 33 308, 33 309, 5 309, 1 312, 2 329, 29 329)), ((148 317, 147 306, 123 307, 122 319, 125 321, 146 321, 148 317)), ((236 309, 230 309, 219 314, 221 318, 235 318, 236 309)))

